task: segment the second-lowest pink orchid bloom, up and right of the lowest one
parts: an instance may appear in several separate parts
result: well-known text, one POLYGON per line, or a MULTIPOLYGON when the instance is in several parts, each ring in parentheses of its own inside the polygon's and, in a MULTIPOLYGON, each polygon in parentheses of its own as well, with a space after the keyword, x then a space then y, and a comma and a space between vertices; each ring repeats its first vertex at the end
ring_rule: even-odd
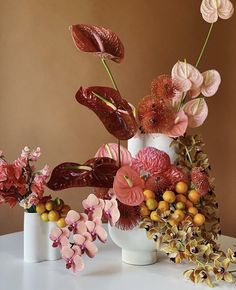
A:
POLYGON ((74 235, 73 240, 75 244, 80 247, 81 253, 86 253, 90 258, 93 258, 98 251, 98 248, 92 242, 92 237, 88 232, 84 235, 74 235))

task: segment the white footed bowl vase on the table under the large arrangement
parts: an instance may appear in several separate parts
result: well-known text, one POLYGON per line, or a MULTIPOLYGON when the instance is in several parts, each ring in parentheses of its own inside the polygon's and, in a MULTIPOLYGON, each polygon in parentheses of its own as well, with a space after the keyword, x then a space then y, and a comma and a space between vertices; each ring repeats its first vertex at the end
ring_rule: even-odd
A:
POLYGON ((157 262, 155 243, 147 238, 145 229, 123 231, 108 225, 108 231, 112 241, 122 249, 123 262, 138 266, 157 262))

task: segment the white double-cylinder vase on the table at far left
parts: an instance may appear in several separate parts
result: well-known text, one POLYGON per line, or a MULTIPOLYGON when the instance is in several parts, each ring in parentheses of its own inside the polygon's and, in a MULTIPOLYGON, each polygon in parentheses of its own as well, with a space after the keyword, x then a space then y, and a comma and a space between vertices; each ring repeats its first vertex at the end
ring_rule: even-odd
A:
POLYGON ((49 240, 54 222, 43 222, 38 213, 24 213, 24 261, 28 263, 58 260, 60 250, 49 240))

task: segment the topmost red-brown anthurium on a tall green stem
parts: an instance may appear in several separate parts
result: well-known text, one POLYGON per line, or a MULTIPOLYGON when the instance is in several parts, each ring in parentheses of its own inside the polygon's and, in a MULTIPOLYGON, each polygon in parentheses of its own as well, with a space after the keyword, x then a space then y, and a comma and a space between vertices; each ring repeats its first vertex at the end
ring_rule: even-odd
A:
POLYGON ((110 29, 77 24, 70 27, 75 46, 83 52, 93 52, 102 58, 121 62, 124 58, 124 46, 119 37, 110 29))

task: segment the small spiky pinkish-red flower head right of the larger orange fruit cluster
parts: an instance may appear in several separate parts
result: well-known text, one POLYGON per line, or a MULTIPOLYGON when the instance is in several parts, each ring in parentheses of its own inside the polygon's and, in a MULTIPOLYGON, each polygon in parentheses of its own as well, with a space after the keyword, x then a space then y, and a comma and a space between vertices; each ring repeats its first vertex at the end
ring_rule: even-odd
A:
POLYGON ((194 167, 191 171, 193 186, 200 195, 205 195, 210 189, 209 179, 201 167, 194 167))

